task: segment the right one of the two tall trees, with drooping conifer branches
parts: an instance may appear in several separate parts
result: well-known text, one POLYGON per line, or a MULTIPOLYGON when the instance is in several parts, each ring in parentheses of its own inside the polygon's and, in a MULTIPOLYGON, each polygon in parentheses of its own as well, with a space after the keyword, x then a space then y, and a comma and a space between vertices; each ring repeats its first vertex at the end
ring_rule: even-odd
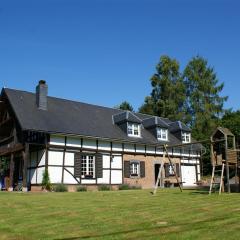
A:
POLYGON ((218 84, 214 69, 206 59, 199 56, 190 60, 183 77, 187 96, 187 123, 192 127, 195 138, 208 138, 224 113, 223 104, 227 97, 220 96, 224 84, 218 84))

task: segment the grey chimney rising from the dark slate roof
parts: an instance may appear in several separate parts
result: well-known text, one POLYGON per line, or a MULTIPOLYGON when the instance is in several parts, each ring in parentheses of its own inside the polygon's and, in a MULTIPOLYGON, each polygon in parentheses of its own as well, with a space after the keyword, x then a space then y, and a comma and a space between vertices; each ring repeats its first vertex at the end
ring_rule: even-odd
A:
POLYGON ((36 104, 38 109, 47 110, 48 85, 45 80, 40 80, 36 87, 36 104))

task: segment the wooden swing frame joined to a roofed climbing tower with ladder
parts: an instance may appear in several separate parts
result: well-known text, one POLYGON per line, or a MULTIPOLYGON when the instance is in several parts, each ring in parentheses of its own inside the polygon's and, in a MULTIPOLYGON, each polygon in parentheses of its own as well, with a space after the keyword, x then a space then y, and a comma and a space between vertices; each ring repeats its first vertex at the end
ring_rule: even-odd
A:
POLYGON ((226 192, 231 192, 230 187, 230 170, 235 176, 235 185, 239 186, 238 191, 240 192, 240 149, 236 147, 236 140, 234 134, 227 128, 218 127, 212 134, 210 139, 203 141, 196 141, 187 144, 178 144, 174 146, 164 145, 164 154, 162 159, 162 164, 159 167, 158 178, 154 187, 153 194, 156 194, 159 182, 162 181, 161 173, 163 171, 163 163, 168 160, 168 163, 174 170, 174 176, 177 180, 178 186, 182 191, 182 182, 179 181, 170 154, 168 152, 169 148, 173 147, 186 147, 187 145, 195 145, 209 143, 211 146, 211 165, 212 165, 212 176, 209 188, 209 194, 218 189, 218 193, 224 192, 224 185, 226 185, 226 192))

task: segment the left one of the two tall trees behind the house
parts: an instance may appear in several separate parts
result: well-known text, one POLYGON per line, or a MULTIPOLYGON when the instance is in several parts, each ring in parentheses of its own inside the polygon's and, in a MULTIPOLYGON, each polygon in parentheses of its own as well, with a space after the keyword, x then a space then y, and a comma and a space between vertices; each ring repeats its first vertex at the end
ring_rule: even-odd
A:
POLYGON ((151 78, 151 96, 145 98, 139 112, 179 120, 184 116, 185 86, 176 59, 161 56, 151 78))

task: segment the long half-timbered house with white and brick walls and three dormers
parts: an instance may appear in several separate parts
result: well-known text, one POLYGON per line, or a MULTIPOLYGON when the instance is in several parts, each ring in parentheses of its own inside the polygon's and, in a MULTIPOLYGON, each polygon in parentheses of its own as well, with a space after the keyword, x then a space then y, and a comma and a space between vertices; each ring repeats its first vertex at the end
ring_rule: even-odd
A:
POLYGON ((49 97, 44 80, 35 93, 3 88, 0 96, 2 179, 10 191, 19 183, 23 191, 41 188, 45 169, 51 183, 69 190, 79 184, 152 188, 164 144, 177 147, 168 149, 173 165, 166 160, 163 184, 176 184, 174 167, 183 186, 193 186, 201 146, 191 141, 191 129, 180 121, 49 97))

